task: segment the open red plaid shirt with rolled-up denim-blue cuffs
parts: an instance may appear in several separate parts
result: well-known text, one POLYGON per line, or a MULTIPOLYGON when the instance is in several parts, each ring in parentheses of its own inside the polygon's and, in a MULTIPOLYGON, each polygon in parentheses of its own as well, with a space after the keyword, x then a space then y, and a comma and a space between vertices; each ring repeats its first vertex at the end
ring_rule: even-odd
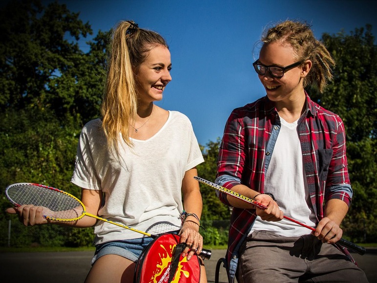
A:
MULTIPOLYGON (((309 194, 319 221, 323 218, 325 200, 337 198, 350 205, 352 189, 342 120, 314 103, 307 94, 306 98, 307 109, 298 121, 298 131, 309 194)), ((215 182, 228 189, 241 183, 263 193, 265 172, 271 159, 269 155, 273 151, 269 140, 272 131, 279 129, 276 126, 280 126, 279 117, 267 96, 234 109, 220 145, 215 182)), ((230 205, 226 194, 219 193, 219 198, 230 205)), ((231 277, 236 271, 238 249, 255 218, 255 210, 233 208, 227 251, 231 277)), ((341 249, 349 255, 347 250, 341 249)))

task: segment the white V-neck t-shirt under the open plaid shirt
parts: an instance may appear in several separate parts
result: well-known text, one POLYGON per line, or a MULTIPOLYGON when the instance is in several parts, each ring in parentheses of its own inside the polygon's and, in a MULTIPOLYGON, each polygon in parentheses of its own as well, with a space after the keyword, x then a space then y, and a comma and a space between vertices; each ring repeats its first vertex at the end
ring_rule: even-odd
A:
MULTIPOLYGON (((281 129, 265 176, 265 192, 273 194, 285 216, 315 227, 315 215, 309 199, 297 121, 288 123, 280 117, 280 122, 281 129)), ((255 219, 250 233, 253 231, 271 231, 286 237, 311 233, 308 228, 287 219, 271 222, 264 221, 259 216, 255 219)))

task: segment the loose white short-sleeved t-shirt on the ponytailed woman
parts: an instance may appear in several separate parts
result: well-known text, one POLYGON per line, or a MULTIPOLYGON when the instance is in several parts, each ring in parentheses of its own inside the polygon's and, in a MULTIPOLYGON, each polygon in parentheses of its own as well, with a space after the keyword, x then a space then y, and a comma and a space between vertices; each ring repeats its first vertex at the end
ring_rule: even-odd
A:
MULTIPOLYGON (((102 218, 153 235, 178 230, 182 179, 186 171, 204 162, 188 117, 169 111, 160 131, 147 140, 132 139, 132 148, 120 143, 119 155, 108 151, 101 125, 96 119, 84 126, 72 183, 102 190, 102 218)), ((96 244, 144 237, 105 221, 97 222, 94 233, 96 244)))

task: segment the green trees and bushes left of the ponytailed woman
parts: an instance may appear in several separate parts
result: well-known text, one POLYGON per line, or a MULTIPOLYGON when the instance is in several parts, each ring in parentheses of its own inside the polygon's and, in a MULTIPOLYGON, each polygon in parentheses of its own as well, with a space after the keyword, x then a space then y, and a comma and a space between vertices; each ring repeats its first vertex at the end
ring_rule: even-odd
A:
MULTIPOLYGON (((10 206, 3 189, 16 182, 42 183, 80 197, 80 188, 69 181, 81 128, 99 116, 108 33, 100 31, 84 53, 78 41, 91 34, 90 25, 65 5, 9 1, 0 15, 0 207, 10 206)), ((8 219, 15 220, 12 230, 17 231, 12 245, 92 242, 87 237, 92 228, 25 228, 3 213, 1 244, 8 219), (43 240, 43 234, 54 240, 43 240)))

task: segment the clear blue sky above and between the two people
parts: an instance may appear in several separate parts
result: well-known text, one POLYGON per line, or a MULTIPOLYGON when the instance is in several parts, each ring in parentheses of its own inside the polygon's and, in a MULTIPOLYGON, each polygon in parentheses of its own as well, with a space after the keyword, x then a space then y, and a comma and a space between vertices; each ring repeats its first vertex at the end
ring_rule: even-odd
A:
MULTIPOLYGON (((49 1, 43 1, 45 3, 49 1)), ((93 35, 120 20, 159 32, 167 40, 172 81, 157 104, 178 110, 191 120, 201 145, 222 137, 232 109, 265 95, 252 69, 258 58, 254 44, 264 28, 282 20, 312 24, 324 32, 346 33, 373 25, 374 0, 59 0, 93 35)), ((81 44, 85 48, 84 42, 81 44)))

